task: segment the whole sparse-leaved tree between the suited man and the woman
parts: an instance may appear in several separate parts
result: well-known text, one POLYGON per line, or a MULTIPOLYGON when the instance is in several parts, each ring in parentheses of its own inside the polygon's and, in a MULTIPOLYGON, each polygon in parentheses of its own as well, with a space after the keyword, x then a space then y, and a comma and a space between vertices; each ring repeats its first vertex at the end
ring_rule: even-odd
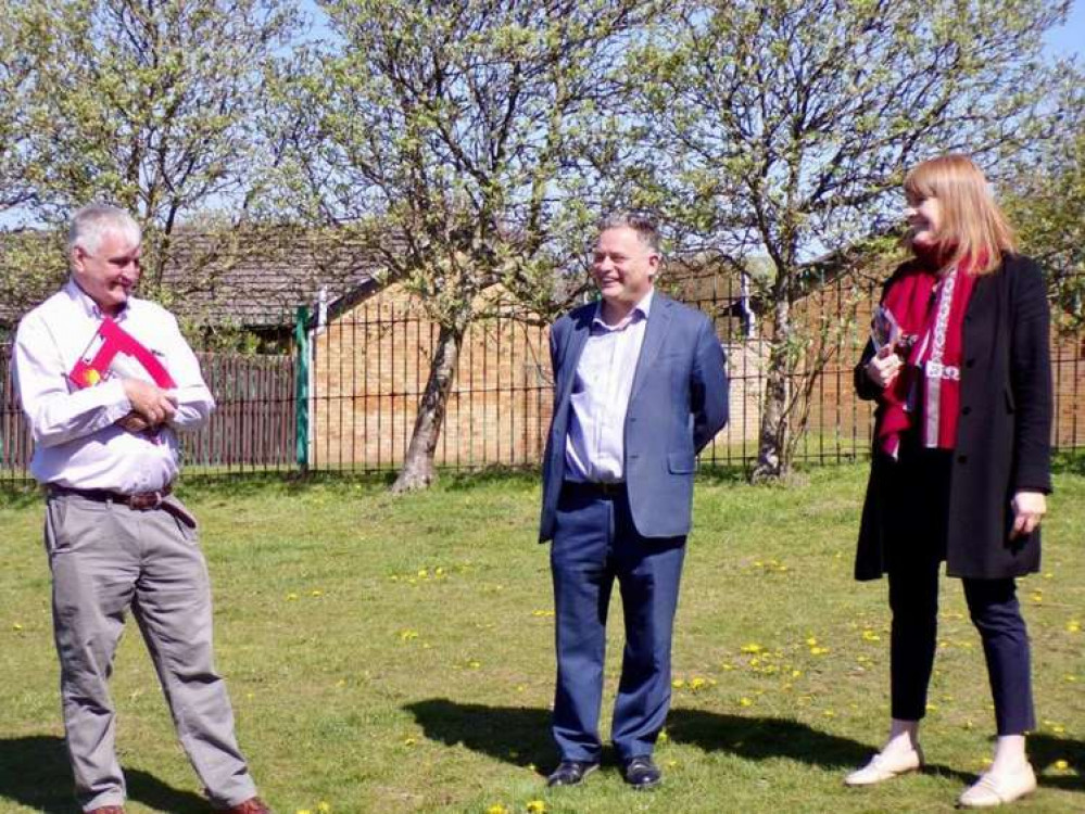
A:
MULTIPOLYGON (((731 257, 767 256, 770 354, 755 478, 785 473, 813 336, 804 269, 884 229, 903 173, 1033 137, 1050 0, 691 2, 631 60, 659 149, 657 195, 731 257)), ((796 425, 798 424, 798 425, 796 425)))

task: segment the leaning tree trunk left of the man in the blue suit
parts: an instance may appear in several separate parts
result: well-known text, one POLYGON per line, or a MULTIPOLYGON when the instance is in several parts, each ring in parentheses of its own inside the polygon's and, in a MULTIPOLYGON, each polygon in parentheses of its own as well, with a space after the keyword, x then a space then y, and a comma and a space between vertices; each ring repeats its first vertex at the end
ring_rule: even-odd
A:
POLYGON ((414 492, 429 486, 437 478, 433 453, 444 425, 449 394, 456 378, 459 348, 464 342, 465 326, 441 326, 437 338, 437 352, 429 368, 426 391, 418 403, 418 417, 403 459, 403 469, 392 484, 392 492, 414 492))

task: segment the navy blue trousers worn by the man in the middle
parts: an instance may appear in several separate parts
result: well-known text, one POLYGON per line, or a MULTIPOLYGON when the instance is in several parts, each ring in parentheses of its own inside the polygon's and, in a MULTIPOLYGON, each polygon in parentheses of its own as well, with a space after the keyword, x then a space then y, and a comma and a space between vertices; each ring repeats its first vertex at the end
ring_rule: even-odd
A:
POLYGON ((626 648, 614 707, 618 758, 651 754, 670 707, 670 648, 685 537, 636 533, 624 492, 562 492, 551 547, 557 688, 553 734, 563 760, 600 760, 606 620, 615 580, 626 648))

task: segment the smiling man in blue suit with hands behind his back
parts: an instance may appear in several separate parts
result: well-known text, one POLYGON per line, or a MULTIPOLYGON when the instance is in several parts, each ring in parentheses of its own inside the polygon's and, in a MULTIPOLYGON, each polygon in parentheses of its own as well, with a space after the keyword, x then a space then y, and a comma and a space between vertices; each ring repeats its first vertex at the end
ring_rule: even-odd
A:
POLYGON ((723 352, 709 319, 654 290, 659 233, 607 218, 592 259, 602 300, 551 330, 554 418, 540 542, 553 540, 557 639, 550 786, 598 767, 606 616, 615 578, 626 649, 611 737, 635 788, 661 779, 652 750, 670 705, 670 648, 696 455, 727 423, 723 352))

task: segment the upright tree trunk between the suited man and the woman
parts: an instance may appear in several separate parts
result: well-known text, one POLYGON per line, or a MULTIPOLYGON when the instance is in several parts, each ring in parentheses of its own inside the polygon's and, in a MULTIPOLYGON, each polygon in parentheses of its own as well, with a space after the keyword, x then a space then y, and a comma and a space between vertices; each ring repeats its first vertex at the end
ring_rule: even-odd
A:
POLYGON ((757 446, 757 463, 753 481, 775 480, 791 469, 787 446, 788 405, 791 404, 793 353, 791 303, 786 297, 777 301, 775 330, 769 351, 769 369, 765 380, 765 402, 757 446))

